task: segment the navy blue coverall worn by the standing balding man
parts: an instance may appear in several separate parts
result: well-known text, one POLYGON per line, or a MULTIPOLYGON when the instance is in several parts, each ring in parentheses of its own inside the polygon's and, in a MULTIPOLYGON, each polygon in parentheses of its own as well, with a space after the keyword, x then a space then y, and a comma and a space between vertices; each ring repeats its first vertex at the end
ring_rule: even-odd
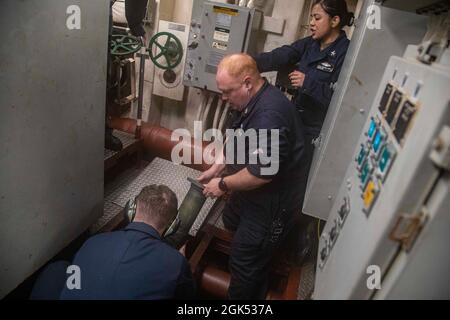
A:
POLYGON ((246 140, 246 155, 256 152, 273 156, 270 163, 259 159, 250 161, 247 157, 245 163, 238 164, 236 141, 234 161, 226 157, 227 174, 247 168, 256 177, 271 179, 257 189, 233 192, 223 213, 225 227, 235 231, 229 260, 229 298, 264 299, 270 260, 292 225, 294 214, 299 213, 302 206, 301 195, 306 185, 303 125, 295 106, 280 90, 265 82, 238 115, 232 128, 240 128, 243 133, 255 129, 258 133, 257 146, 246 140), (267 133, 269 141, 263 143, 264 131, 261 130, 264 129, 278 130, 278 139, 267 133), (279 155, 278 159, 275 154, 279 155), (278 164, 277 172, 262 172, 274 162, 278 164))

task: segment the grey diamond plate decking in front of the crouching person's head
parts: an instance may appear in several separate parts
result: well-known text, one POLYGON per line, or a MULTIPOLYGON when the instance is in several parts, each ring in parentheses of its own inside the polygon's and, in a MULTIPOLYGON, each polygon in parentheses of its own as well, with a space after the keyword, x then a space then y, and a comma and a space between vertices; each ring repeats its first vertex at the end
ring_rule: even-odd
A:
MULTIPOLYGON (((156 158, 139 174, 136 174, 136 172, 130 173, 129 176, 119 177, 117 182, 109 188, 108 195, 105 192, 106 201, 110 201, 123 208, 127 201, 137 196, 144 186, 149 184, 164 184, 175 192, 179 207, 190 187, 187 177, 197 178, 201 172, 156 158)), ((206 200, 189 231, 191 236, 197 234, 214 203, 215 200, 213 199, 208 198, 206 200)))

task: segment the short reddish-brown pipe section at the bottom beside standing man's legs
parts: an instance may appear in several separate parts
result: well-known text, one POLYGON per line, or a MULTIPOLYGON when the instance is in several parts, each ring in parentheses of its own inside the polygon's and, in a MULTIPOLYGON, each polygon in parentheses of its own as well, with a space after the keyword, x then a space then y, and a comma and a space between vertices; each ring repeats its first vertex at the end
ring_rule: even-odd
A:
POLYGON ((200 277, 200 287, 209 296, 218 299, 227 299, 231 276, 228 272, 208 265, 200 277))

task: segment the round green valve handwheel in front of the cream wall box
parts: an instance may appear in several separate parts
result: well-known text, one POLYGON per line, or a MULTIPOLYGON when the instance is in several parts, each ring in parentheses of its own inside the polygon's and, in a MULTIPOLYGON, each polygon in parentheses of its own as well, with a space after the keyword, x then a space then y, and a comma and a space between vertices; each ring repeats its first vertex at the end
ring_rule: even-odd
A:
POLYGON ((164 70, 173 69, 183 58, 183 46, 180 40, 169 32, 159 32, 150 39, 150 59, 164 70))

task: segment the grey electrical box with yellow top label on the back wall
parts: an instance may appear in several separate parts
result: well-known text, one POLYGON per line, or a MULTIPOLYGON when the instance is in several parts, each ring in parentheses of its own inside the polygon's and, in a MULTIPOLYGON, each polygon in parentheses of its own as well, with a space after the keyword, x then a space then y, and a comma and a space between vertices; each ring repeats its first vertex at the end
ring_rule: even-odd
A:
POLYGON ((184 84, 214 92, 219 62, 228 54, 252 53, 262 13, 247 7, 194 0, 184 84))

